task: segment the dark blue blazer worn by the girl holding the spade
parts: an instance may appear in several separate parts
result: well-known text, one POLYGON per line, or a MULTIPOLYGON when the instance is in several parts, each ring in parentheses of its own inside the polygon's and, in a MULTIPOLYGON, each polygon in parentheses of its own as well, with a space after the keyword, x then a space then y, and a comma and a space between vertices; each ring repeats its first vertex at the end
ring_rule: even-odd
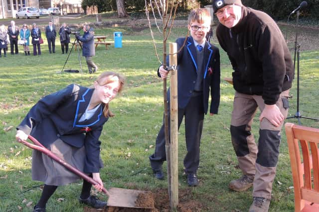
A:
POLYGON ((57 140, 75 147, 85 145, 87 157, 84 172, 99 172, 99 138, 108 120, 103 116, 104 104, 99 106, 90 119, 79 123, 90 103, 93 90, 71 84, 44 96, 30 109, 17 129, 33 136, 46 147, 57 140))

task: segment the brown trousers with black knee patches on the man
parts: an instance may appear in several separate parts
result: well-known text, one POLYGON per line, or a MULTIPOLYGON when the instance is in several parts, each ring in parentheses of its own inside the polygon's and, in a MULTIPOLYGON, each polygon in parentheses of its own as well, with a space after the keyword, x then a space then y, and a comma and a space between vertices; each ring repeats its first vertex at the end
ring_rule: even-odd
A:
MULTIPOLYGON (((280 94, 276 103, 285 118, 288 115, 288 97, 289 90, 286 90, 280 94)), ((275 127, 264 118, 259 124, 257 145, 251 133, 251 125, 258 108, 261 112, 265 108, 262 96, 236 91, 230 132, 241 171, 243 174, 255 175, 253 197, 271 199, 283 124, 275 127)))

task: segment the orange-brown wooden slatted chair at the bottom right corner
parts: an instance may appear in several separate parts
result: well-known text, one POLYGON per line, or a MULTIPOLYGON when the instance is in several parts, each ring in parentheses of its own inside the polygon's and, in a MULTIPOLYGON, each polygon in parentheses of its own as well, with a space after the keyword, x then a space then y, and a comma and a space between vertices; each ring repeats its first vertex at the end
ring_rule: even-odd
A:
POLYGON ((319 212, 319 129, 285 124, 295 212, 319 212))

